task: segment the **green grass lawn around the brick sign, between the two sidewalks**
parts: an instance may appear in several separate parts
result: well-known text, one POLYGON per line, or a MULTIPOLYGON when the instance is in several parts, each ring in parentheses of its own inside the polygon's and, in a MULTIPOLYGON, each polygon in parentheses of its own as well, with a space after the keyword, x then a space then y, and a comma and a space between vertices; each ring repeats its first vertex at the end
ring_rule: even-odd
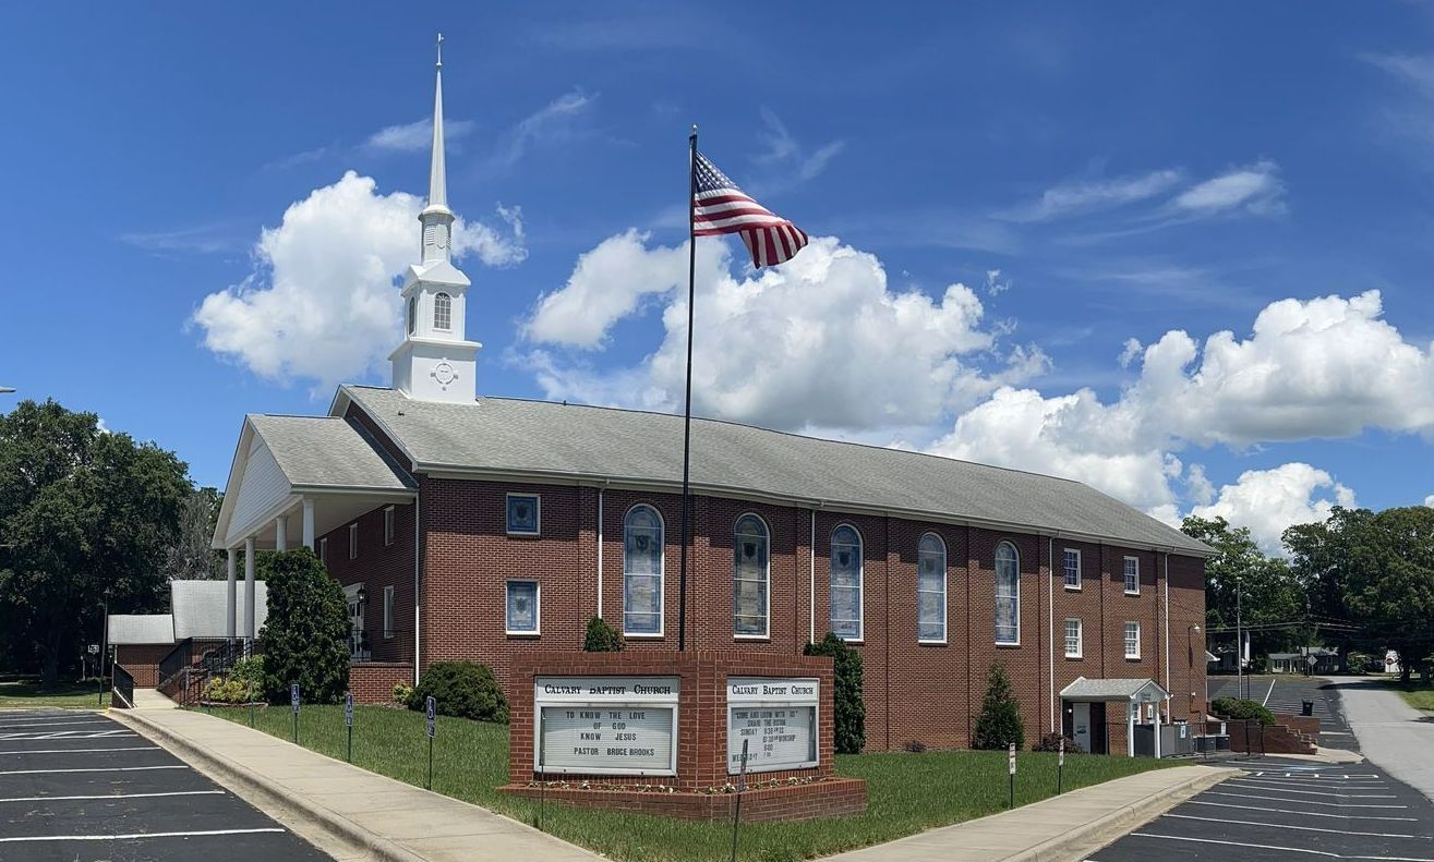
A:
MULTIPOLYGON (((248 723, 248 710, 215 709, 212 715, 248 723)), ((287 707, 255 710, 260 730, 291 739, 287 707)), ((344 757, 344 719, 338 706, 305 706, 300 745, 344 757)), ((533 823, 535 800, 496 792, 508 783, 508 727, 465 719, 439 719, 433 749, 433 789, 533 823)), ((427 740, 423 715, 374 706, 354 710, 354 763, 423 786, 427 740)), ((1169 766, 1149 757, 1073 755, 1065 762, 1065 789, 1083 788, 1147 769, 1169 766)), ((1007 805, 1005 752, 926 752, 842 755, 839 773, 863 778, 869 806, 859 816, 794 823, 751 823, 741 828, 740 859, 783 862, 809 859, 891 841, 995 813, 1007 805)), ((1025 805, 1054 795, 1055 755, 1018 756, 1015 802, 1025 805)), ((688 862, 727 859, 731 825, 675 820, 651 815, 546 806, 543 829, 621 861, 688 862)))

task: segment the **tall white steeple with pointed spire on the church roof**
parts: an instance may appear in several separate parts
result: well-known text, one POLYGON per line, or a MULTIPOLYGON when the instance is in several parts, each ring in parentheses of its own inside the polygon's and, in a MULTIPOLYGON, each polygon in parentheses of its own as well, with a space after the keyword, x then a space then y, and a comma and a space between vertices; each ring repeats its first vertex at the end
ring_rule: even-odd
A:
POLYGON ((447 208, 447 169, 443 160, 443 36, 433 87, 433 160, 429 203, 419 213, 420 263, 403 279, 404 338, 389 361, 393 387, 423 401, 472 402, 478 342, 463 338, 467 276, 450 261, 453 210, 447 208))

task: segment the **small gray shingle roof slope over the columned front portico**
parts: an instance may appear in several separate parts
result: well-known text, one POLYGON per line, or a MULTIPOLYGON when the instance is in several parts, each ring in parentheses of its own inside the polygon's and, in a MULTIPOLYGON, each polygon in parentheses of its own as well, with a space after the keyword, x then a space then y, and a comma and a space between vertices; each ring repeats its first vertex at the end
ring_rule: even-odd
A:
POLYGON ((264 445, 295 487, 403 491, 416 487, 357 422, 331 417, 250 417, 264 445))

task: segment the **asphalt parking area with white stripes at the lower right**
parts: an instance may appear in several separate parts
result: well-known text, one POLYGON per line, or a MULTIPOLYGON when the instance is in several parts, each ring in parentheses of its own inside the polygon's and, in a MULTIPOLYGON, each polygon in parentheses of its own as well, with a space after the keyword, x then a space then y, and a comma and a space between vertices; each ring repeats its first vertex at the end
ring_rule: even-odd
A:
POLYGON ((1259 757, 1088 862, 1206 859, 1434 862, 1434 805, 1359 765, 1259 757))

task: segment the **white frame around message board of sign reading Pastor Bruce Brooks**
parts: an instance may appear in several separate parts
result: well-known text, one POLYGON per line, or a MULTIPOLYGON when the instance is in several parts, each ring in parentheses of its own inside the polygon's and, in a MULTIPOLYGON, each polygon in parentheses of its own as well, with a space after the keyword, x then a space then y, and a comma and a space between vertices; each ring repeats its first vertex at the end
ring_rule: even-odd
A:
POLYGON ((678 676, 538 676, 533 677, 533 772, 559 775, 677 775, 677 749, 683 680, 678 676), (564 689, 564 690, 552 690, 564 689), (575 690, 568 690, 575 689, 575 690), (621 689, 621 692, 594 693, 594 689, 621 689), (667 692, 644 692, 642 689, 667 689, 667 692), (671 745, 668 746, 667 769, 619 769, 611 766, 549 766, 542 757, 542 710, 562 709, 670 709, 671 745))

